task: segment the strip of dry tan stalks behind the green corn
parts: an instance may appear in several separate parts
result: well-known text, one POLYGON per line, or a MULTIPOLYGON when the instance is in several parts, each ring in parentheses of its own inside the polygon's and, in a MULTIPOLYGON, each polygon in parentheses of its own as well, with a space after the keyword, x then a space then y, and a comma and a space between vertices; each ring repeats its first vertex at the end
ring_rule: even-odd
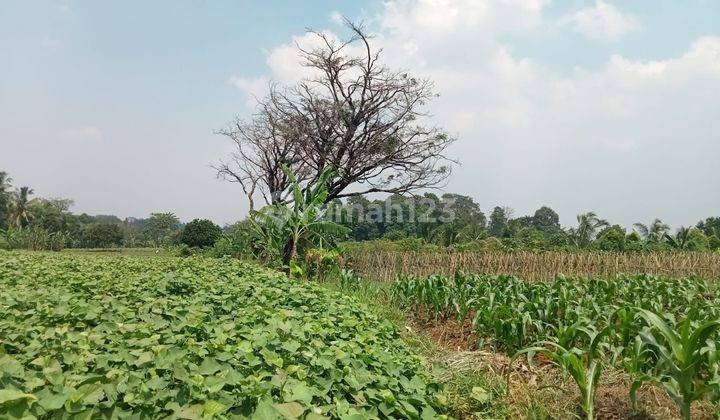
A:
POLYGON ((346 263, 358 274, 393 280, 398 274, 452 275, 457 270, 486 275, 513 275, 527 280, 568 277, 612 277, 650 274, 667 277, 720 277, 720 254, 694 252, 427 252, 352 250, 346 263))

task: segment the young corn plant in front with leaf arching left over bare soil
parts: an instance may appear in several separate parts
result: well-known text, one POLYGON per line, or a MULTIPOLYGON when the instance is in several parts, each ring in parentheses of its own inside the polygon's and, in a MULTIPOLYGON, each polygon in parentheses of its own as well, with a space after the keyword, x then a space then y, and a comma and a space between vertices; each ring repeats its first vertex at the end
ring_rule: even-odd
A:
POLYGON ((520 350, 515 354, 513 360, 523 354, 531 357, 533 354, 538 353, 548 357, 552 364, 560 367, 573 378, 580 390, 580 407, 585 414, 585 418, 592 420, 595 418, 595 394, 603 368, 602 344, 605 336, 610 333, 611 328, 606 327, 597 331, 590 327, 580 326, 579 324, 580 323, 576 323, 566 328, 566 335, 571 334, 573 337, 566 337, 563 341, 577 343, 580 338, 579 336, 584 334, 588 339, 588 345, 585 348, 567 348, 555 341, 541 341, 535 346, 520 350))

